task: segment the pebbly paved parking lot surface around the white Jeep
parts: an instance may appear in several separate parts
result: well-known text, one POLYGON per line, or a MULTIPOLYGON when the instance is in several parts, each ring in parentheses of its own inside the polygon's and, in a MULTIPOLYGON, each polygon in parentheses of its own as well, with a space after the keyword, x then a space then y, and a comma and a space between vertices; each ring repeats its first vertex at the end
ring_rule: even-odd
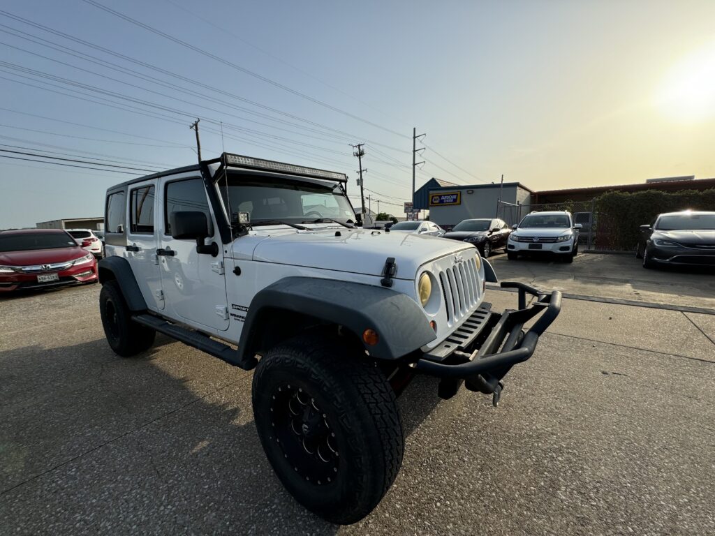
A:
MULTIPOLYGON (((703 312, 690 312, 678 300, 692 274, 656 293, 650 273, 603 274, 611 258, 588 275, 584 257, 558 265, 573 277, 556 286, 577 297, 498 409, 465 391, 440 401, 428 378, 408 387, 402 471, 349 527, 307 513, 272 474, 250 372, 165 337, 117 357, 99 285, 0 298, 0 534, 715 534, 712 276, 697 274, 703 312), (588 299, 598 277, 620 298, 588 299), (633 289, 674 307, 616 302, 633 289)), ((552 277, 548 262, 493 262, 502 279, 552 277)))

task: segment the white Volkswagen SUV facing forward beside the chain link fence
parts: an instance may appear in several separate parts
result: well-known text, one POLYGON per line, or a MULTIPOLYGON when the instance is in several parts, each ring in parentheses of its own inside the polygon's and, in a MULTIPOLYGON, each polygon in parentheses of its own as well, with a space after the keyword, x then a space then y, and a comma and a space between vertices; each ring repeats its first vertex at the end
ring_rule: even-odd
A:
POLYGON ((571 212, 531 212, 509 235, 506 253, 509 259, 518 254, 556 254, 566 262, 573 262, 578 254, 578 230, 571 212))

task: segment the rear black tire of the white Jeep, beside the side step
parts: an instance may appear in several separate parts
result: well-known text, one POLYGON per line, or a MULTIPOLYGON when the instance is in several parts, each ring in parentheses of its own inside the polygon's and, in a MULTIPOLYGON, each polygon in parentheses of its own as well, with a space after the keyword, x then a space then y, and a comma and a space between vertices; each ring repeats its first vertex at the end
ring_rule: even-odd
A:
POLYGON ((132 312, 116 281, 107 281, 99 292, 99 313, 109 347, 122 357, 132 357, 154 344, 156 332, 132 322, 132 312))

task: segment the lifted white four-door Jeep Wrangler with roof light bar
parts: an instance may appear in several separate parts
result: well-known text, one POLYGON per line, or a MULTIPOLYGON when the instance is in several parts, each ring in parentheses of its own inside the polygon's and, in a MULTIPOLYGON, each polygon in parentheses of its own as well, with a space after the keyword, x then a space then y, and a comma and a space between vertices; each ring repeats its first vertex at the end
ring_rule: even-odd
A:
POLYGON ((415 374, 440 377, 445 399, 464 383, 496 405, 561 307, 558 292, 503 282, 519 308, 490 312, 495 274, 471 244, 360 229, 346 187, 344 174, 235 154, 134 179, 107 190, 99 263, 114 352, 161 332, 255 368, 273 469, 342 524, 368 515, 400 470, 395 400, 415 374))

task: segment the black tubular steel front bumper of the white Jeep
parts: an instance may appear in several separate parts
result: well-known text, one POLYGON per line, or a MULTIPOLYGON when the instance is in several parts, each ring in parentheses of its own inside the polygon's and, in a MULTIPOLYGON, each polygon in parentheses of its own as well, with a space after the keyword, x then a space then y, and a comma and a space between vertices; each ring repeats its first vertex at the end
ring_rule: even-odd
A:
POLYGON ((496 405, 501 379, 513 365, 531 357, 538 338, 561 312, 561 292, 540 292, 519 282, 502 282, 501 287, 518 289, 518 310, 497 314, 477 309, 460 329, 412 365, 416 372, 442 378, 440 397, 453 397, 465 382, 471 391, 493 394, 496 405), (526 294, 536 298, 529 307, 526 294), (540 313, 524 332, 523 325, 540 313))

